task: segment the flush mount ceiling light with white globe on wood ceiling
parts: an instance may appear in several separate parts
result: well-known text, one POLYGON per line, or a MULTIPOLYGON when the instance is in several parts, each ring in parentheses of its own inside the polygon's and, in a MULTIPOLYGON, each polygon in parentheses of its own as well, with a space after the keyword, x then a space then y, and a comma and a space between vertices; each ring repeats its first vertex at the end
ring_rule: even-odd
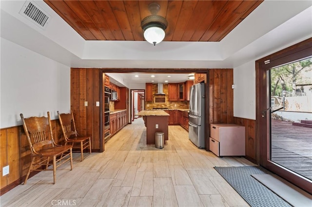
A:
POLYGON ((168 22, 164 17, 157 15, 160 6, 156 2, 149 4, 148 9, 152 15, 143 18, 141 28, 144 31, 145 40, 156 45, 165 38, 165 29, 168 22))

